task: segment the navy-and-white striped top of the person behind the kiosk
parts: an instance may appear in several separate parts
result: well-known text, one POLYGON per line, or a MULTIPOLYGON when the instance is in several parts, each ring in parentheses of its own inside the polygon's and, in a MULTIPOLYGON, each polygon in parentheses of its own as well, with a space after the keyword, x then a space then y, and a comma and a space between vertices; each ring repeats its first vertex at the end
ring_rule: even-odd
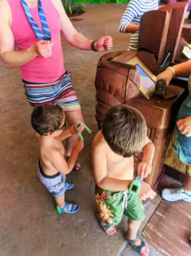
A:
MULTIPOLYGON (((147 2, 147 0, 131 0, 126 8, 121 21, 119 22, 118 31, 126 33, 125 29, 129 24, 140 24, 141 16, 147 11, 154 11, 158 9, 158 0, 147 2)), ((131 34, 131 41, 128 50, 138 50, 138 31, 131 34)))

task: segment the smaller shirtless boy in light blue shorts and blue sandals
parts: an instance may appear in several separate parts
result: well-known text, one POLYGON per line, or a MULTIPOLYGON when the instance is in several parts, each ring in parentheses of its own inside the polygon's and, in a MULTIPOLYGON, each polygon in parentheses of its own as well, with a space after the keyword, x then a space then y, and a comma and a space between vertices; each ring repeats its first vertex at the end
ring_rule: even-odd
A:
MULTIPOLYGON (((83 149, 83 141, 76 141, 70 158, 65 159, 63 139, 77 133, 75 126, 65 128, 65 116, 59 105, 41 105, 33 110, 31 125, 37 132, 36 138, 40 149, 38 176, 40 181, 53 195, 60 212, 75 213, 79 205, 65 202, 65 192, 73 189, 73 182, 66 180, 66 174, 73 170, 79 152, 83 149)), ((83 128, 79 126, 78 130, 83 128)))

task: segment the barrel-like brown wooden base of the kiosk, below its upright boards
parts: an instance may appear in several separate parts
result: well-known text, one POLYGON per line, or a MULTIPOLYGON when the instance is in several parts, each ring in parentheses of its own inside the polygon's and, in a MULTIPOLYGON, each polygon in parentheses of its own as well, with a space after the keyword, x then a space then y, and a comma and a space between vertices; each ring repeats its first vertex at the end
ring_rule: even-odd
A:
MULTIPOLYGON (((125 61, 128 60, 128 54, 131 55, 131 51, 122 53, 125 61)), ((146 181, 154 187, 163 173, 163 160, 173 131, 173 116, 176 115, 177 111, 175 106, 176 103, 180 104, 178 99, 183 94, 183 88, 170 85, 170 90, 173 90, 177 95, 176 98, 170 100, 158 100, 156 97, 147 100, 141 97, 137 70, 125 65, 121 61, 118 52, 102 56, 95 76, 95 88, 95 118, 99 129, 102 129, 102 119, 105 112, 116 104, 130 104, 144 115, 148 127, 148 136, 155 146, 152 172, 146 181), (115 56, 118 56, 117 60, 120 63, 116 61, 115 56), (115 57, 115 61, 112 61, 113 57, 115 57)), ((135 160, 137 163, 140 162, 141 155, 136 156, 135 160)))

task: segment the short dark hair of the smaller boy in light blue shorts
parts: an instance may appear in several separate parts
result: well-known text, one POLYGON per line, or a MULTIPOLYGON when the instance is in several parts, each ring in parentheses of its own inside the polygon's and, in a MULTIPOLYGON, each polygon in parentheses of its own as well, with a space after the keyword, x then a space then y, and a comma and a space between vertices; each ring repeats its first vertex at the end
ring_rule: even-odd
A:
POLYGON ((60 128, 63 121, 63 109, 59 105, 44 104, 35 107, 31 114, 31 126, 44 135, 60 128))

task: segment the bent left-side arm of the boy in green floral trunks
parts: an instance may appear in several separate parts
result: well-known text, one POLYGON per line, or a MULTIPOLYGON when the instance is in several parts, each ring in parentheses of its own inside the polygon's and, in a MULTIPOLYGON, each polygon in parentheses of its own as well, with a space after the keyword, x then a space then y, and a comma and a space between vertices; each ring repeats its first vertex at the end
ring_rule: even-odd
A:
POLYGON ((105 147, 100 144, 95 145, 94 142, 92 143, 92 171, 95 183, 102 189, 125 191, 133 181, 108 177, 105 147))

